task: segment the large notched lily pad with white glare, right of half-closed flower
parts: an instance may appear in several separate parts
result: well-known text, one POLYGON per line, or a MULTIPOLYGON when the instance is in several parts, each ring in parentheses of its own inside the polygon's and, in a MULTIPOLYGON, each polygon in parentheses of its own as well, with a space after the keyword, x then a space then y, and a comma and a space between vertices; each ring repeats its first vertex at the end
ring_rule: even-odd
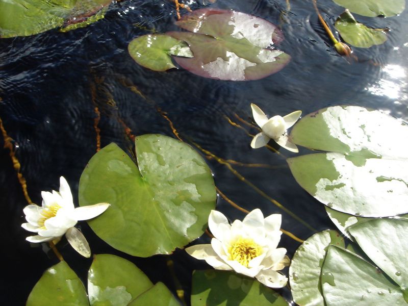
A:
POLYGON ((355 216, 408 212, 408 126, 356 106, 335 106, 296 123, 292 142, 334 151, 288 159, 296 181, 330 208, 355 216))

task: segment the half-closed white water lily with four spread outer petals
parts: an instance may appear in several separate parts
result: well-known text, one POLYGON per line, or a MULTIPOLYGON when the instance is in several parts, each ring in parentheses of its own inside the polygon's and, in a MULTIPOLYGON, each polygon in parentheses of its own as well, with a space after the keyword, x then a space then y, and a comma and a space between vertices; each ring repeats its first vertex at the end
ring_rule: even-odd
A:
POLYGON ((297 146, 289 141, 286 130, 296 123, 302 114, 301 111, 295 111, 284 117, 277 115, 268 119, 265 113, 253 103, 251 103, 251 109, 253 119, 262 129, 261 133, 253 137, 251 141, 252 148, 257 149, 263 147, 269 142, 269 140, 273 139, 278 145, 289 151, 296 153, 299 151, 297 146))

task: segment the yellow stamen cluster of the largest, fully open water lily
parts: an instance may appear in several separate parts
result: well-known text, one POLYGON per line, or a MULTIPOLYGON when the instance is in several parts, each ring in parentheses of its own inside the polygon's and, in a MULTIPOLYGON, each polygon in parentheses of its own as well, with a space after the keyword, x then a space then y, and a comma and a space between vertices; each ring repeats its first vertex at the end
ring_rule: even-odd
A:
POLYGON ((250 238, 238 238, 231 246, 228 248, 228 253, 230 253, 230 260, 239 262, 241 265, 248 267, 251 259, 256 258, 262 254, 262 246, 255 243, 250 238))

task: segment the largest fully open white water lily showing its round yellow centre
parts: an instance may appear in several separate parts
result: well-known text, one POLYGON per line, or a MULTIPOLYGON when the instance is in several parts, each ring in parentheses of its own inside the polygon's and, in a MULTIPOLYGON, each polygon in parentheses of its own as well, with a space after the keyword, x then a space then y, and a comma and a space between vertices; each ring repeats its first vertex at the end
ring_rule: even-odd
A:
POLYGON ((261 210, 255 209, 242 222, 235 220, 230 225, 222 213, 213 210, 208 219, 214 235, 211 244, 193 245, 186 251, 215 269, 234 270, 268 287, 281 288, 288 278, 277 271, 289 265, 286 249, 276 248, 282 235, 281 222, 282 215, 264 219, 261 210))

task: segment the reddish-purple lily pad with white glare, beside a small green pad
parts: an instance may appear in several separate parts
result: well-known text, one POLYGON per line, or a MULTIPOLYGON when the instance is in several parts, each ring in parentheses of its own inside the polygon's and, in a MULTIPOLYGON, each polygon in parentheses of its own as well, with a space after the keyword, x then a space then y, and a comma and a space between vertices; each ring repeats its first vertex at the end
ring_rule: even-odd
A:
POLYGON ((201 9, 176 22, 191 32, 169 32, 186 41, 194 58, 174 58, 183 68, 201 77, 248 81, 281 70, 290 60, 282 51, 270 49, 283 39, 272 23, 231 10, 201 9))

